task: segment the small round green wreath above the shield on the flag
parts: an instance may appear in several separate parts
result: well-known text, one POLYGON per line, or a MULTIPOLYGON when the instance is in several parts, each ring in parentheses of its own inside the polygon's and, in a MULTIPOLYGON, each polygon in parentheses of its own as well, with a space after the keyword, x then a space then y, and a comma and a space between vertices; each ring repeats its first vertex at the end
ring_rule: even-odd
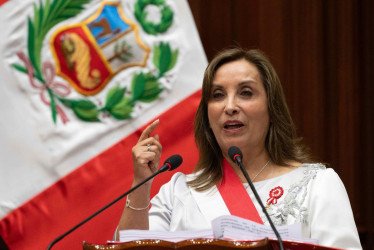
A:
POLYGON ((174 13, 169 6, 165 5, 165 0, 138 0, 135 3, 134 12, 135 17, 142 25, 143 30, 151 35, 165 33, 173 24, 174 13), (155 5, 160 8, 161 20, 159 23, 147 21, 147 12, 145 11, 145 8, 148 5, 155 5))

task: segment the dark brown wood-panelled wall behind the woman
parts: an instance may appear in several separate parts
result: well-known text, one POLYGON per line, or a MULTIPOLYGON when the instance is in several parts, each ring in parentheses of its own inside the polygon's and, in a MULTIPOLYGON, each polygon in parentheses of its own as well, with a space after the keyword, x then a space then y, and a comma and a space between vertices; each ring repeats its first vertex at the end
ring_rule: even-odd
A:
POLYGON ((230 45, 269 56, 298 134, 343 180, 361 243, 374 249, 374 1, 188 2, 208 60, 230 45))

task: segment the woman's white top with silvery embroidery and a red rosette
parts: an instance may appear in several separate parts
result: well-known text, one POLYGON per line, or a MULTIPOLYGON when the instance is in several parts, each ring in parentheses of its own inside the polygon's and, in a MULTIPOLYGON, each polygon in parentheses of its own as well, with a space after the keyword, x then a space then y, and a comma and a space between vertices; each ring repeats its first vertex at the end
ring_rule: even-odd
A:
MULTIPOLYGON (((209 229, 213 219, 230 214, 216 186, 197 192, 186 185, 195 175, 176 173, 161 187, 151 201, 150 230, 209 229)), ((269 225, 248 184, 244 185, 262 221, 269 225)), ((254 186, 275 226, 301 223, 303 237, 317 239, 320 245, 362 249, 347 192, 333 169, 303 164, 254 186), (271 190, 283 194, 271 199, 271 190), (268 205, 267 201, 273 202, 268 205)))

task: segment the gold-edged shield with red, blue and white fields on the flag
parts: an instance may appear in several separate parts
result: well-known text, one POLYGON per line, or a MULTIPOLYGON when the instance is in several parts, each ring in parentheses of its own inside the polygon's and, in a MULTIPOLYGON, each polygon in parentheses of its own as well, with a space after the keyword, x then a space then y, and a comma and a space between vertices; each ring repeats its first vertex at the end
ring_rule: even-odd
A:
POLYGON ((144 67, 150 53, 119 3, 108 2, 86 20, 56 30, 50 44, 57 74, 85 96, 99 93, 121 70, 144 67))

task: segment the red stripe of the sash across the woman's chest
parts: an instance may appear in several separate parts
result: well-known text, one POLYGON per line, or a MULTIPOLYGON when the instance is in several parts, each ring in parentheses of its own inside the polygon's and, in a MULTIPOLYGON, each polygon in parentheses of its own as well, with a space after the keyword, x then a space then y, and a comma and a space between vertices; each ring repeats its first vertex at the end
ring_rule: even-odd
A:
POLYGON ((217 188, 231 215, 264 224, 243 183, 225 158, 222 182, 217 188))

